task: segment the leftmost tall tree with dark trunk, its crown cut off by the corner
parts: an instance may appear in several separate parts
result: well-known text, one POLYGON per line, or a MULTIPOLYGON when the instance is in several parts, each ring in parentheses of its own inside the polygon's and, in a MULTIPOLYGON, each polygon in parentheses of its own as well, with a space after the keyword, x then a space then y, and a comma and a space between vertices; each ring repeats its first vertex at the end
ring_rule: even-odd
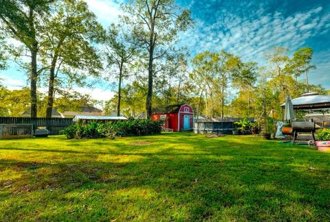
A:
POLYGON ((37 113, 37 65, 41 21, 55 0, 0 0, 0 19, 10 37, 19 40, 30 52, 31 117, 37 113))

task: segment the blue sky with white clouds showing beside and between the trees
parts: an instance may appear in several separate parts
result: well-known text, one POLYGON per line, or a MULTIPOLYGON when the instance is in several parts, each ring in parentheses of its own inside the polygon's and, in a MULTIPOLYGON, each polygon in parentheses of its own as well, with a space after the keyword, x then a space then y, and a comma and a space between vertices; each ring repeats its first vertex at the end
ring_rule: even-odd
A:
MULTIPOLYGON (((104 27, 117 22, 120 1, 86 0, 104 27)), ((274 46, 289 48, 290 53, 300 47, 314 49, 315 71, 309 74, 311 84, 322 84, 330 89, 330 1, 177 1, 189 8, 195 19, 195 27, 182 36, 190 54, 225 49, 241 56, 244 61, 253 60, 265 64, 264 52, 274 46)), ((0 72, 10 88, 26 84, 22 71, 11 67, 0 72)), ((94 89, 78 88, 95 99, 109 99, 113 93, 107 84, 94 89), (104 95, 107 95, 104 97, 104 95)))

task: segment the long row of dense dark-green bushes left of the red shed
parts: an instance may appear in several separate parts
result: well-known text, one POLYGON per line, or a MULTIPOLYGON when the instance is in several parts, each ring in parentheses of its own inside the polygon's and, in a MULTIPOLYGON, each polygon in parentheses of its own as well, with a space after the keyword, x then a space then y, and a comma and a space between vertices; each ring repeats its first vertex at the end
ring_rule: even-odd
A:
POLYGON ((146 136, 160 134, 162 121, 150 119, 131 119, 109 123, 91 122, 84 125, 74 124, 63 130, 67 138, 114 138, 114 136, 146 136))

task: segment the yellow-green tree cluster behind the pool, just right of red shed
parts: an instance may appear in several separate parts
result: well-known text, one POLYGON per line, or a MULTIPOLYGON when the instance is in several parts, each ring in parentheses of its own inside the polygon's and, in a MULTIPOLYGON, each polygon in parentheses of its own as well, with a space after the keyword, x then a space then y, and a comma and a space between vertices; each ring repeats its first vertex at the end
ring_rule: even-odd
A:
POLYGON ((204 51, 192 58, 194 69, 189 77, 195 84, 194 93, 206 103, 204 114, 207 117, 224 116, 228 88, 231 82, 239 79, 241 64, 239 57, 224 50, 219 53, 204 51))

